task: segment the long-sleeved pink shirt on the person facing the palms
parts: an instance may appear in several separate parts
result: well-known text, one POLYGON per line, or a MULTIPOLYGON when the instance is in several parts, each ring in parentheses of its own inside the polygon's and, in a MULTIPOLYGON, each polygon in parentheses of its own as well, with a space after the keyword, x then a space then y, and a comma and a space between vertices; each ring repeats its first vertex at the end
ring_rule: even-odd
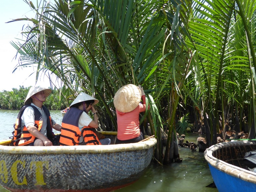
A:
MULTIPOLYGON (((143 103, 146 103, 145 95, 142 96, 143 103)), ((117 116, 117 138, 119 140, 128 140, 140 136, 139 113, 146 110, 146 105, 139 105, 131 112, 120 112, 116 110, 117 116)))

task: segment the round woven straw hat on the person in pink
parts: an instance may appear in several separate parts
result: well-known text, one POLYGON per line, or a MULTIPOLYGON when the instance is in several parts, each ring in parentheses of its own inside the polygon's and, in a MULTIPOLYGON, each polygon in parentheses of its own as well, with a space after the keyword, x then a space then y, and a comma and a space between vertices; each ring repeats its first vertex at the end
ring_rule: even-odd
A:
POLYGON ((133 111, 141 101, 141 90, 133 84, 124 85, 114 96, 114 106, 120 112, 133 111))

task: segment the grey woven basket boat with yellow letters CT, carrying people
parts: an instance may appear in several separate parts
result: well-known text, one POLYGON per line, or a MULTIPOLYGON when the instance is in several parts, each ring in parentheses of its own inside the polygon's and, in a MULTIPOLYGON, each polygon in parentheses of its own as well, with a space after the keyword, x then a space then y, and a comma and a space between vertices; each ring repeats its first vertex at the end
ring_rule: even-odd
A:
MULTIPOLYGON (((114 141, 116 132, 101 132, 114 141)), ((0 141, 0 184, 10 191, 107 192, 139 179, 155 138, 132 144, 10 146, 0 141)))

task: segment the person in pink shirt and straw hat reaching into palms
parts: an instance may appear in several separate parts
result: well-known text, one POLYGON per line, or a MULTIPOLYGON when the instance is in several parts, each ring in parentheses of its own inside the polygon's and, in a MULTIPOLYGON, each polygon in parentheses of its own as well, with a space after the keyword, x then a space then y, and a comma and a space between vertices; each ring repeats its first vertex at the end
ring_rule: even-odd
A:
POLYGON ((115 144, 136 143, 144 139, 140 131, 139 113, 146 110, 143 87, 124 85, 114 96, 117 116, 117 139, 115 144), (143 103, 141 103, 141 99, 143 103))

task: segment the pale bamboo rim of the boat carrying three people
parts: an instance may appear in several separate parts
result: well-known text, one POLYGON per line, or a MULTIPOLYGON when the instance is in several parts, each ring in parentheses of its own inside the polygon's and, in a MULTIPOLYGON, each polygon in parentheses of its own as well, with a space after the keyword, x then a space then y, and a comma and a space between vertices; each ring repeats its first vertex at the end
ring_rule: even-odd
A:
MULTIPOLYGON (((103 134, 106 132, 103 132, 103 134)), ((114 132, 113 132, 114 133, 114 132)), ((112 134, 112 132, 108 133, 112 134)), ((111 144, 111 145, 76 145, 76 146, 7 146, 9 140, 0 141, 0 153, 9 154, 74 154, 74 153, 111 153, 126 152, 150 149, 155 146, 157 140, 149 138, 146 141, 129 144, 111 144)))

